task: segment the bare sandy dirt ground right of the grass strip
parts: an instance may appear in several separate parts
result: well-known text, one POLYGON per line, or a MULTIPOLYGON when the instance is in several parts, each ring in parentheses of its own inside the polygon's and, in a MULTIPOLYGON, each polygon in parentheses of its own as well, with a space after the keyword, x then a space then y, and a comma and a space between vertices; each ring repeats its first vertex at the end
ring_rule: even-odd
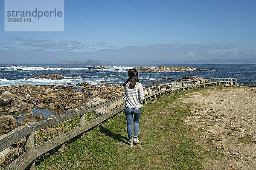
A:
POLYGON ((256 88, 210 88, 183 102, 194 103, 194 116, 184 120, 201 145, 218 150, 207 170, 256 170, 256 88), (216 90, 216 91, 215 91, 216 90))

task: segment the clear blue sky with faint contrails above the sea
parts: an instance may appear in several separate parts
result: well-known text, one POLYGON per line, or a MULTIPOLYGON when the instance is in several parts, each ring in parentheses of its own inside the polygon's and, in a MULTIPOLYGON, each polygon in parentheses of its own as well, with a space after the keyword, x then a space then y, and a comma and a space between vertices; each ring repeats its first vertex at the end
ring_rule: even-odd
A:
POLYGON ((254 0, 65 0, 65 31, 5 32, 0 63, 256 57, 254 0))

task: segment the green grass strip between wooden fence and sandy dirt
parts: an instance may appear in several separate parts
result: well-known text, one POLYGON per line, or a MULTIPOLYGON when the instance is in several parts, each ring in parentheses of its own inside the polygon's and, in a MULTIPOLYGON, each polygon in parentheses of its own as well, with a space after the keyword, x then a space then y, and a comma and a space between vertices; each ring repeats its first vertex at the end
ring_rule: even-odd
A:
POLYGON ((38 170, 189 170, 203 169, 209 150, 190 139, 191 127, 182 119, 190 105, 179 100, 195 89, 162 96, 159 102, 143 105, 140 119, 141 144, 127 143, 126 120, 121 113, 67 144, 63 151, 44 155, 38 170))

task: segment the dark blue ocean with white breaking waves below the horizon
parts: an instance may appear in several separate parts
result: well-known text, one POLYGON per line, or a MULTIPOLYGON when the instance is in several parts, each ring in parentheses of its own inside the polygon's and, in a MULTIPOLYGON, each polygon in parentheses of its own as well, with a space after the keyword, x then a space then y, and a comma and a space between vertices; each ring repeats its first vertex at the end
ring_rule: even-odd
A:
MULTIPOLYGON (((138 67, 157 67, 160 65, 106 65, 108 69, 89 69, 94 65, 0 65, 0 85, 76 85, 80 82, 91 84, 109 83, 121 85, 127 79, 127 70, 138 67), (63 79, 36 79, 44 74, 61 74, 63 79), (79 78, 70 78, 78 75, 79 78)), ((238 84, 256 84, 256 64, 180 64, 168 67, 192 67, 210 69, 212 71, 191 72, 139 72, 140 82, 151 83, 172 82, 186 75, 202 78, 236 77, 238 84)))

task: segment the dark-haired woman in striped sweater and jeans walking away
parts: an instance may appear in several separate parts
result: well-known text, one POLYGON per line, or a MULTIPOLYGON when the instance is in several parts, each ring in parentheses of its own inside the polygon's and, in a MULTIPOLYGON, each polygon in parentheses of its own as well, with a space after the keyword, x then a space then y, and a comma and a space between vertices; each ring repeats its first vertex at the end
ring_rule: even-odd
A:
POLYGON ((129 144, 140 143, 138 139, 139 120, 141 113, 141 104, 143 103, 144 94, 143 86, 139 82, 138 71, 135 68, 129 69, 128 80, 124 83, 126 100, 125 100, 125 117, 127 122, 127 133, 129 144), (132 126, 134 123, 134 140, 132 136, 132 126))

